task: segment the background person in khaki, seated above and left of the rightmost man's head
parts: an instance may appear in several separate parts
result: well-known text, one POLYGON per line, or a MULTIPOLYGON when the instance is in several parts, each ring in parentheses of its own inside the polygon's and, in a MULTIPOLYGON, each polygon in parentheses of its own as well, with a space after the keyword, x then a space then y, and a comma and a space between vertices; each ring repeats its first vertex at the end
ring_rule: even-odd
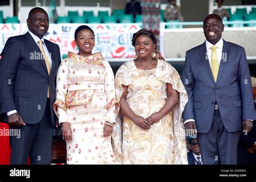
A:
POLYGON ((166 6, 164 11, 164 19, 165 20, 179 20, 183 22, 184 18, 181 16, 180 7, 176 5, 176 0, 168 0, 170 3, 166 6))

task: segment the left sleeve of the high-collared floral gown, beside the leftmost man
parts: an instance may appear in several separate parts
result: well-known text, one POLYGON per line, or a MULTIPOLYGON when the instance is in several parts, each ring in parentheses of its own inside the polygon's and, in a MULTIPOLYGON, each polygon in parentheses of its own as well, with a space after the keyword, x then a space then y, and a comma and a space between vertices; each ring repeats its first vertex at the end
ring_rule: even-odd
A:
POLYGON ((65 97, 68 90, 69 68, 66 60, 62 61, 58 68, 56 77, 56 100, 53 103, 53 109, 56 116, 59 118, 59 124, 69 122, 68 115, 66 114, 65 97))

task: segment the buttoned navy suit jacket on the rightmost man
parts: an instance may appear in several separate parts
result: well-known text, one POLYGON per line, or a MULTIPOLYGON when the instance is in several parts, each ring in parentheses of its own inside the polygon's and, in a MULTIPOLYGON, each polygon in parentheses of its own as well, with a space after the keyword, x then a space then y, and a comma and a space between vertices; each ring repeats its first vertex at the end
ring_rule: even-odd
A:
POLYGON ((197 131, 206 133, 213 120, 214 101, 218 101, 228 132, 242 130, 242 120, 255 120, 251 76, 243 47, 223 40, 217 82, 214 82, 206 43, 186 52, 183 83, 188 94, 184 121, 194 119, 197 131))

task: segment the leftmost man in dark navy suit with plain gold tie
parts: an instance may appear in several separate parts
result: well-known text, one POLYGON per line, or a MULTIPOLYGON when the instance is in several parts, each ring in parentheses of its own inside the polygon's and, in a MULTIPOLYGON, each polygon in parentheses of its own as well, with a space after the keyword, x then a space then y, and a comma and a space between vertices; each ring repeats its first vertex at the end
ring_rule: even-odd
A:
POLYGON ((8 115, 11 164, 50 164, 53 127, 56 116, 52 104, 56 95, 56 74, 60 64, 57 44, 44 39, 48 14, 33 8, 26 20, 29 31, 10 37, 0 61, 1 113, 8 115))

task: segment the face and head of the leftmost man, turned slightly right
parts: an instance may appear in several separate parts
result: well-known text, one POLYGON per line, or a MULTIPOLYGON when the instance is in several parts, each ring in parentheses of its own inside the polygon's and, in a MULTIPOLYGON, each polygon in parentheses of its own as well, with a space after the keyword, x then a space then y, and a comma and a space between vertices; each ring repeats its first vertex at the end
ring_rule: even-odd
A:
POLYGON ((33 34, 42 39, 49 28, 49 17, 43 9, 37 9, 26 19, 26 24, 33 34))

